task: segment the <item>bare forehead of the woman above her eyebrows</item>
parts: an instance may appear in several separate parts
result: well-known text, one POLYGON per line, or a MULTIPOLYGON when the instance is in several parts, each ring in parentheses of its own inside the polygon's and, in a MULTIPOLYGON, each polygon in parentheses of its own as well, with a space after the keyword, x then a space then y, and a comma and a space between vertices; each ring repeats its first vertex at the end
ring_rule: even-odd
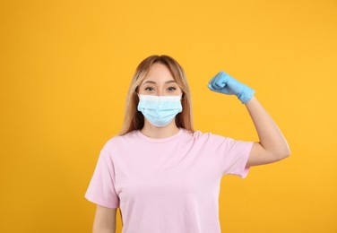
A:
POLYGON ((143 82, 153 81, 153 82, 167 82, 170 80, 175 80, 168 69, 168 66, 155 63, 151 66, 149 73, 145 76, 143 82))

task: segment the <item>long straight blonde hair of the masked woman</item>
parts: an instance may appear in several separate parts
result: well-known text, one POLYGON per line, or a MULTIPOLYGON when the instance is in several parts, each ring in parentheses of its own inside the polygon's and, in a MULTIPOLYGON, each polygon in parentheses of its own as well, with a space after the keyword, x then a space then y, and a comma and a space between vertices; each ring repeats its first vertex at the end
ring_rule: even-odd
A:
POLYGON ((153 55, 145 58, 136 68, 134 77, 130 83, 129 91, 126 97, 124 123, 120 135, 127 134, 134 130, 143 128, 144 116, 142 112, 137 110, 139 98, 137 95, 138 86, 142 84, 147 73, 149 73, 151 65, 160 63, 166 65, 172 74, 177 85, 183 92, 182 94, 182 107, 183 111, 176 116, 176 125, 180 128, 185 128, 194 132, 193 116, 192 116, 192 99, 190 89, 186 80, 186 74, 183 68, 177 61, 167 55, 153 55))

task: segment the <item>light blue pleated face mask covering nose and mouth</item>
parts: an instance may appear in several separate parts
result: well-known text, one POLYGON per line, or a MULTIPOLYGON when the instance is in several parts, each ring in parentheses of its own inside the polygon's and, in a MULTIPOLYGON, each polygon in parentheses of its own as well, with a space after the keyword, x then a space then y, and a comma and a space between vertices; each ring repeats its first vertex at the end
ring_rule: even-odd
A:
POLYGON ((139 95, 138 111, 157 127, 164 127, 171 123, 174 117, 183 111, 181 95, 179 96, 151 96, 139 95))

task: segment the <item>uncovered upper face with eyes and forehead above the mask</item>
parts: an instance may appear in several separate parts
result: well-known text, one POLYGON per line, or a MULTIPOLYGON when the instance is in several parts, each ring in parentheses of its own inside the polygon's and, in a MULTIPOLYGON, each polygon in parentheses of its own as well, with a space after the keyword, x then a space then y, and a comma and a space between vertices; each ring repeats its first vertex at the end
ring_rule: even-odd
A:
POLYGON ((178 96, 182 92, 166 65, 155 63, 139 86, 141 95, 178 96))

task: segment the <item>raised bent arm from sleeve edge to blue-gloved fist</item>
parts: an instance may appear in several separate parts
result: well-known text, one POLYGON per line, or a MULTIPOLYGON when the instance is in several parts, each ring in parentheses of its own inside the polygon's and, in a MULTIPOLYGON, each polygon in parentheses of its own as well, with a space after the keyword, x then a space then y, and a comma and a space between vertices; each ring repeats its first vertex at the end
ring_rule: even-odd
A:
POLYGON ((255 91, 238 82, 229 74, 220 72, 209 82, 211 91, 236 95, 252 117, 260 142, 254 142, 246 167, 272 163, 289 157, 290 150, 279 127, 255 98, 255 91))

